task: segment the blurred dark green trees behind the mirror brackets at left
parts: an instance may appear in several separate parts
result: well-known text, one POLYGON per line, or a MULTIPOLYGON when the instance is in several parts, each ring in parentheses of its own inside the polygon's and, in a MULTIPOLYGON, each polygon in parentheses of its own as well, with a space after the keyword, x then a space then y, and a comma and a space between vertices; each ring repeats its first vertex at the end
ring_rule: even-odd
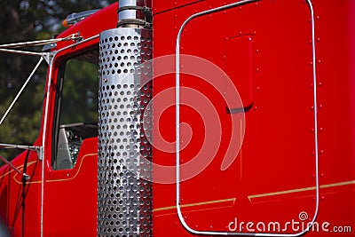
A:
MULTIPOLYGON (((103 8, 115 0, 0 0, 0 44, 49 39, 64 30, 68 14, 103 8)), ((41 48, 30 50, 41 51, 41 48)), ((0 52, 0 117, 36 65, 38 58, 0 52)), ((42 115, 46 64, 37 70, 26 91, 0 126, 0 143, 31 145, 42 115)), ((11 160, 20 151, 0 150, 11 160)))

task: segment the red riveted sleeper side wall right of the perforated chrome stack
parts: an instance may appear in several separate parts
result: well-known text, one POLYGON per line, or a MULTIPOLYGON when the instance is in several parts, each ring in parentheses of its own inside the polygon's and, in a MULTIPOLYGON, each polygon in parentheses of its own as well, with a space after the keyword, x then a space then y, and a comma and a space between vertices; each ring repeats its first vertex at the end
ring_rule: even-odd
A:
MULTIPOLYGON (((158 4, 154 4, 157 9, 160 8, 158 4)), ((154 57, 175 54, 177 32, 184 20, 216 4, 224 3, 203 1, 157 13, 154 17, 154 57), (165 46, 156 46, 162 44, 165 46)), ((180 52, 208 59, 225 70, 232 80, 235 75, 246 78, 248 83, 239 83, 237 79, 233 83, 240 91, 244 106, 250 104, 249 101, 253 104, 245 114, 241 152, 233 165, 223 171, 221 163, 230 142, 231 116, 225 112, 225 101, 202 80, 181 75, 182 85, 201 91, 213 103, 223 134, 221 146, 209 167, 181 184, 182 215, 191 228, 228 231, 235 217, 239 223, 280 222, 282 225, 292 219, 300 221, 301 212, 306 212, 311 220, 316 205, 314 130, 319 130, 317 221, 319 224, 329 222, 331 226, 353 226, 355 173, 351 91, 354 79, 351 76, 353 49, 348 42, 353 34, 350 12, 354 8, 351 1, 335 5, 312 1, 312 4, 318 128, 314 128, 313 123, 312 20, 304 1, 261 1, 211 13, 190 21, 185 27, 180 52), (243 43, 245 38, 250 39, 250 46, 243 43), (234 71, 229 72, 231 63, 235 64, 234 71), (251 73, 245 76, 248 68, 251 73)), ((175 77, 166 75, 160 82, 157 80, 154 84, 156 95, 175 86, 175 77)), ((201 126, 199 112, 191 110, 180 109, 181 122, 187 122, 193 133, 192 146, 186 146, 181 152, 181 160, 191 159, 201 149, 201 144, 196 144, 203 139, 201 134, 211 129, 201 126)), ((165 113, 159 121, 159 129, 163 138, 172 141, 175 138, 171 134, 171 130, 175 130, 175 110, 165 113)), ((173 164, 174 159, 175 154, 154 150, 154 162, 169 160, 173 164)), ((187 234, 177 219, 175 200, 174 184, 154 185, 155 235, 187 234)), ((247 231, 246 225, 240 231, 247 231)), ((299 231, 288 228, 288 233, 299 231)), ((320 231, 306 236, 324 234, 320 231)), ((338 234, 327 233, 329 236, 338 234)), ((342 234, 351 236, 351 233, 342 234)))

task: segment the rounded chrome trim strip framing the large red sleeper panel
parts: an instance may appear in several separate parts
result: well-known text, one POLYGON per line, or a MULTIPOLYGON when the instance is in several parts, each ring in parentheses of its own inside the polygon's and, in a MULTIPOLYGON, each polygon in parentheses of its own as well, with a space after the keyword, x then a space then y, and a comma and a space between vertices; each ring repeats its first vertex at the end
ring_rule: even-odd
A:
POLYGON ((311 20, 312 20, 312 67, 313 67, 313 107, 314 107, 314 149, 315 149, 315 165, 316 165, 316 170, 315 170, 315 179, 316 179, 316 209, 314 216, 312 218, 312 225, 307 225, 307 228, 302 231, 301 233, 292 233, 292 234, 287 234, 287 233, 233 233, 233 232, 215 232, 215 231, 198 231, 194 230, 191 228, 189 225, 185 223, 185 219, 182 216, 181 212, 181 205, 180 205, 180 92, 179 92, 179 87, 180 87, 180 39, 181 35, 183 33, 183 30, 185 26, 187 25, 188 22, 191 20, 209 14, 213 12, 220 12, 226 9, 230 9, 233 7, 237 7, 243 4, 251 4, 258 2, 260 0, 244 0, 238 3, 233 3, 233 4, 227 4, 224 6, 220 6, 214 9, 210 9, 208 11, 204 12, 198 12, 193 15, 191 15, 189 18, 187 18, 184 23, 182 24, 181 28, 178 31, 177 34, 177 44, 176 44, 176 162, 177 162, 177 169, 176 169, 176 178, 177 178, 177 216, 179 218, 180 223, 185 227, 185 229, 193 234, 203 234, 203 235, 233 235, 233 236, 238 236, 238 235, 244 235, 244 236, 273 236, 273 237, 296 237, 303 235, 304 233, 307 233, 312 225, 314 225, 315 219, 318 215, 318 210, 319 210, 319 170, 318 170, 318 163, 319 163, 319 158, 318 158, 318 120, 317 120, 317 75, 316 75, 316 51, 315 51, 315 34, 314 34, 314 13, 313 13, 313 6, 311 0, 306 0, 307 4, 310 8, 311 12, 311 20))

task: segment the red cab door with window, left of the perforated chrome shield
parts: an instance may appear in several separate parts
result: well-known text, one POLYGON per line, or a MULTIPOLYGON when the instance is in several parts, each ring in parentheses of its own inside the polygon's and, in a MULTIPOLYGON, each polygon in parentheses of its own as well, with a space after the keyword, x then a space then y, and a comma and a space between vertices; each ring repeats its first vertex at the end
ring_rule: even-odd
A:
POLYGON ((43 233, 95 236, 99 49, 54 59, 51 161, 45 173, 43 233), (83 227, 85 226, 85 227, 83 227))

